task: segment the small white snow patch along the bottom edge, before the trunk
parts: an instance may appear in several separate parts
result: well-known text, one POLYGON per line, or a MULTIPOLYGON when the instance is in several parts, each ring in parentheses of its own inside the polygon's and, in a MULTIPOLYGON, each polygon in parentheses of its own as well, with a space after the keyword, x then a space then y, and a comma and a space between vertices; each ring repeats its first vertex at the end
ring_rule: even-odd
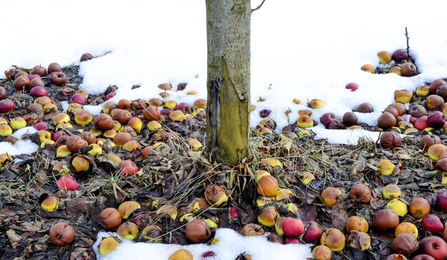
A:
POLYGON ((114 259, 129 259, 129 254, 132 252, 131 259, 145 260, 148 255, 153 260, 166 260, 169 256, 178 249, 188 249, 194 256, 194 259, 204 259, 201 254, 206 251, 213 251, 216 256, 209 257, 209 260, 229 260, 236 259, 236 257, 244 253, 250 254, 251 259, 269 259, 281 260, 290 259, 306 259, 311 255, 309 245, 298 244, 277 244, 267 241, 264 236, 241 236, 233 229, 217 229, 214 239, 219 239, 216 244, 192 244, 189 246, 179 246, 174 244, 156 244, 156 243, 134 243, 121 238, 116 233, 101 232, 98 234, 98 239, 93 245, 96 255, 99 260, 114 260, 114 259), (98 248, 101 239, 107 236, 115 236, 121 240, 121 244, 116 247, 115 251, 106 256, 99 254, 98 248), (150 254, 148 252, 157 252, 157 254, 150 254))

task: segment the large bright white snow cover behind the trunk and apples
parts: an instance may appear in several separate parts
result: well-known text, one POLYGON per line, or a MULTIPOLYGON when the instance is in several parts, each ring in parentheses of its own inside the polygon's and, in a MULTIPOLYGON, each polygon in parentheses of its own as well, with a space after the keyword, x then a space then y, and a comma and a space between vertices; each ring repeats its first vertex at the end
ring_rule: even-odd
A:
MULTIPOLYGON (((260 2, 252 0, 252 6, 260 2)), ((5 36, 0 48, 1 70, 12 65, 48 66, 51 62, 69 66, 79 64, 82 53, 96 56, 111 51, 80 64, 84 77, 81 88, 97 94, 109 85, 117 85, 117 95, 112 99, 116 102, 121 98, 158 97, 161 91, 157 85, 171 83, 174 88, 169 91, 169 99, 193 103, 196 98, 206 98, 204 0, 126 4, 117 0, 4 0, 0 5, 2 10, 8 10, 0 16, 5 36), (188 83, 186 90, 177 92, 178 83, 188 83), (141 87, 131 90, 133 85, 141 87), (185 95, 190 90, 197 94, 185 95)), ((332 112, 341 118, 358 104, 368 102, 375 111, 357 113, 359 121, 376 125, 381 111, 393 103, 394 90, 415 90, 418 85, 447 77, 444 16, 443 1, 266 0, 251 20, 251 103, 256 105, 251 125, 260 120, 258 112, 268 108, 281 130, 296 121, 298 110, 310 109, 306 101, 313 98, 326 102, 321 110, 310 109, 317 122, 323 113, 332 112), (418 76, 374 75, 360 70, 365 63, 378 66, 379 51, 406 48, 406 27, 411 55, 421 71, 418 76), (360 87, 355 92, 346 90, 349 82, 360 87), (258 102, 259 98, 266 100, 258 102), (302 103, 296 105, 293 98, 302 103), (284 113, 289 108, 292 112, 286 118, 284 113)), ((92 113, 101 110, 101 106, 85 108, 92 113)), ((359 137, 378 137, 377 132, 364 130, 326 130, 321 124, 311 130, 317 139, 327 138, 331 143, 356 145, 359 137)), ((14 146, 0 143, 0 153, 35 150, 37 146, 29 141, 21 140, 14 146)), ((219 230, 218 234, 228 232, 219 230)), ((256 251, 248 242, 246 245, 245 251, 256 251)), ((126 253, 116 254, 134 259, 137 256, 131 254, 154 256, 151 249, 140 253, 136 245, 128 246, 123 249, 126 253)), ((156 250, 161 246, 166 255, 177 248, 147 246, 156 250)), ((267 250, 269 246, 256 249, 267 250)), ((108 259, 119 258, 111 255, 108 259)))

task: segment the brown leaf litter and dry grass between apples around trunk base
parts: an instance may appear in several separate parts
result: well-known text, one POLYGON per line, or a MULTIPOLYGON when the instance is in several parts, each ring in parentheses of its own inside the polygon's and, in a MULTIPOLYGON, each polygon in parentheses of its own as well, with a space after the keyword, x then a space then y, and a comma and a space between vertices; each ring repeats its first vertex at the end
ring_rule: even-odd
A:
MULTIPOLYGON (((51 119, 61 111, 61 101, 69 100, 81 83, 77 69, 76 66, 64 68, 69 82, 63 88, 44 80, 49 96, 59 111, 50 111, 39 120, 49 122, 53 133, 56 127, 51 124, 51 119)), ((11 120, 31 113, 26 110, 33 100, 31 96, 14 93, 11 80, 0 81, 0 85, 6 86, 10 97, 18 104, 14 112, 2 115, 4 118, 11 120)), ((91 105, 102 102, 104 97, 101 95, 88 99, 91 105)), ((136 117, 142 115, 138 110, 129 111, 136 117)), ((91 124, 85 127, 76 125, 73 115, 71 121, 73 128, 66 129, 69 135, 78 134, 80 129, 92 128, 91 124)), ((345 231, 348 217, 361 216, 367 219, 371 249, 361 252, 346 244, 343 251, 333 254, 333 259, 384 259, 391 254, 393 232, 378 232, 372 225, 373 214, 385 208, 390 200, 382 196, 386 184, 398 184, 402 190, 401 200, 406 204, 415 197, 426 198, 432 204, 431 212, 441 217, 442 221, 447 220, 446 214, 433 207, 436 193, 445 186, 437 180, 439 176, 434 162, 418 146, 421 132, 419 135, 404 137, 401 147, 388 150, 378 145, 376 140, 361 140, 356 146, 331 145, 326 140, 313 140, 311 132, 310 135, 303 135, 302 130, 293 125, 281 134, 273 131, 266 136, 258 135, 256 129, 253 129, 249 157, 234 166, 209 162, 203 148, 194 150, 189 145, 190 138, 204 143, 203 116, 198 115, 194 120, 180 123, 166 119, 161 129, 150 131, 144 123, 141 133, 136 132, 134 140, 139 142, 141 148, 159 142, 159 146, 146 158, 141 156, 141 149, 128 152, 110 144, 103 146, 104 154, 115 153, 123 160, 136 162, 141 170, 138 177, 122 177, 116 165, 104 155, 93 157, 87 151, 81 153, 84 152, 84 157, 89 158, 90 170, 76 172, 71 166, 74 156, 57 158, 53 145, 31 155, 14 156, 14 160, 0 170, 0 259, 96 259, 92 246, 96 234, 104 231, 99 224, 99 213, 106 207, 118 208, 121 202, 128 200, 141 204, 141 209, 134 212, 129 220, 144 216, 139 219, 140 224, 144 222, 144 225, 157 224, 161 227, 164 235, 160 237, 160 242, 189 244, 184 234, 184 222, 155 217, 156 205, 173 204, 179 209, 181 217, 189 212, 194 199, 204 197, 204 189, 209 184, 221 184, 231 199, 223 207, 200 209, 196 214, 211 219, 216 217, 219 219, 219 227, 241 232, 245 224, 258 223, 260 209, 256 207, 258 195, 254 173, 260 169, 266 169, 275 176, 279 187, 293 192, 290 199, 272 202, 281 216, 313 220, 325 230, 336 227, 346 237, 349 235, 345 231), (263 165, 263 159, 266 158, 279 160, 281 167, 263 165), (393 175, 382 177, 378 174, 377 163, 381 159, 391 160, 397 166, 393 175), (315 180, 308 185, 303 184, 303 172, 311 172, 315 180), (61 175, 75 177, 79 182, 79 190, 59 190, 56 180, 61 175), (358 204, 348 197, 351 188, 359 183, 368 185, 372 191, 372 199, 368 204, 358 204), (341 201, 332 208, 323 204, 320 197, 326 187, 337 187, 342 192, 341 201), (51 213, 40 207, 48 196, 59 199, 59 209, 51 213), (290 212, 286 207, 288 202, 296 204, 298 210, 290 212), (229 216, 231 208, 237 209, 238 219, 229 216), (49 240, 49 229, 57 222, 69 223, 75 229, 75 239, 68 246, 54 246, 49 240)), ((434 134, 446 140, 443 130, 436 130, 434 134)), ((35 134, 25 138, 39 142, 35 134)), ((401 217, 401 222, 416 224, 419 239, 430 235, 410 214, 401 217)), ((274 228, 263 229, 275 232, 274 228)), ((207 242, 211 240, 212 237, 207 242)))

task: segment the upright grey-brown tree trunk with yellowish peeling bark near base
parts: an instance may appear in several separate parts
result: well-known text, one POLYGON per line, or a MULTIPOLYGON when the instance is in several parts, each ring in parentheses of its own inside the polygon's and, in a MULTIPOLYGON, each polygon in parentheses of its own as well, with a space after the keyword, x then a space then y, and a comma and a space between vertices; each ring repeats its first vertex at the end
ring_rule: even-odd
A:
POLYGON ((206 150, 212 161, 248 155, 250 0, 206 0, 206 150))

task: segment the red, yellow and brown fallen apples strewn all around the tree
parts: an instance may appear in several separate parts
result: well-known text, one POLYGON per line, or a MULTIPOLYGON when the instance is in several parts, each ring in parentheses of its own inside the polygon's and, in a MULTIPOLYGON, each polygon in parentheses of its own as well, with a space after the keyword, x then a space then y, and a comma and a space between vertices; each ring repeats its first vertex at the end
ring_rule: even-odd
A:
MULTIPOLYGON (((91 58, 86 53, 81 61, 91 58)), ((386 64, 396 65, 402 73, 408 62, 405 59, 386 64)), ((388 65, 380 66, 376 73, 388 65)), ((279 134, 274 132, 276 123, 269 118, 271 110, 261 110, 262 119, 252 135, 262 140, 263 145, 257 147, 262 153, 259 161, 221 168, 192 157, 203 150, 201 123, 206 100, 196 99, 192 104, 169 100, 173 86, 161 83, 161 92, 155 98, 113 102, 116 86, 110 86, 102 95, 89 95, 86 90, 71 88, 76 77, 68 72, 64 76, 62 71, 66 70, 54 63, 51 69, 36 66, 33 70, 14 68, 6 72, 8 80, 0 87, 0 139, 16 142, 12 134, 17 130, 29 126, 36 129, 26 138, 39 145, 39 155, 50 158, 46 175, 51 178, 44 185, 51 188, 49 194, 39 198, 38 207, 44 217, 57 218, 67 202, 90 191, 99 176, 107 180, 98 188, 101 192, 103 187, 115 189, 114 199, 99 204, 101 211, 92 217, 99 231, 117 234, 101 241, 101 255, 114 251, 122 239, 163 243, 175 234, 177 244, 207 243, 213 241, 218 227, 231 227, 245 236, 266 236, 271 242, 311 243, 314 259, 336 259, 352 251, 368 255, 371 249, 378 248, 378 238, 383 237, 390 240, 383 246, 390 253, 387 259, 447 256, 443 251, 447 239, 447 218, 443 214, 447 210, 447 191, 437 192, 436 200, 413 196, 400 183, 408 164, 398 153, 408 144, 399 133, 421 135, 414 139, 418 142, 416 153, 426 155, 426 160, 416 163, 430 171, 427 175, 434 176, 431 184, 447 184, 447 147, 438 136, 446 130, 443 79, 421 86, 415 93, 396 90, 396 102, 383 111, 374 127, 385 131, 380 137, 384 149, 379 148, 367 158, 363 164, 367 170, 358 170, 365 180, 353 178, 354 184, 345 185, 339 180, 326 182, 331 179, 325 175, 333 174, 329 167, 321 174, 311 171, 308 162, 294 165, 272 156, 278 155, 271 145, 276 141, 280 149, 287 148, 283 150, 296 144, 315 145, 311 138, 303 137, 311 137, 306 128, 316 125, 312 111, 323 108, 323 100, 308 101, 308 109, 298 111, 297 122, 279 134), (29 100, 19 102, 19 93, 29 95, 29 100), (61 100, 69 103, 66 110, 61 100), (104 103, 98 115, 86 109, 86 105, 98 103, 104 103), (388 155, 390 150, 396 153, 388 155), (168 160, 166 165, 162 163, 168 160), (243 180, 238 182, 240 187, 227 186, 234 178, 243 180), (313 198, 304 199, 299 192, 313 198), (187 196, 179 199, 179 194, 187 196), (317 217, 304 212, 308 204, 316 204, 317 217), (346 209, 346 214, 341 209, 346 209), (336 212, 342 212, 341 224, 327 221, 336 212)), ((186 83, 177 86, 179 91, 185 88, 186 83)), ((358 85, 349 83, 346 88, 355 91, 358 85)), ((195 95, 194 91, 186 94, 195 95)), ((362 128, 356 113, 373 110, 373 105, 361 103, 342 118, 325 113, 319 122, 328 129, 362 128)), ((286 152, 280 155, 289 156, 286 152)), ((313 156, 318 166, 326 167, 326 161, 331 160, 324 154, 313 156)), ((7 153, 0 154, 0 169, 9 167, 14 159, 7 153)), ((49 231, 52 244, 76 244, 75 224, 56 223, 49 231)), ((202 256, 205 259, 215 253, 206 251, 202 256)), ((191 252, 180 249, 170 259, 191 257, 191 252)))

